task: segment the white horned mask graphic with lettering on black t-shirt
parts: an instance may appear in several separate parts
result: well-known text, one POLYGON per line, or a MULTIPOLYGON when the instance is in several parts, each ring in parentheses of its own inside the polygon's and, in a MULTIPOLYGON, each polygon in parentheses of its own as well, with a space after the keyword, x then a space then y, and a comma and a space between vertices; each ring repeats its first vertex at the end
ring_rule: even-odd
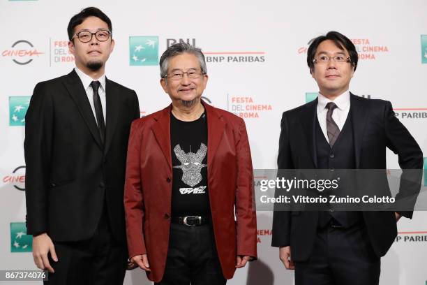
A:
MULTIPOLYGON (((174 147, 174 153, 177 156, 179 162, 181 162, 180 166, 174 166, 174 168, 180 168, 182 170, 182 182, 190 187, 194 187, 195 185, 199 184, 200 181, 202 181, 202 174, 200 171, 202 168, 207 166, 206 164, 202 164, 202 161, 207 154, 207 146, 202 142, 200 144, 200 149, 197 150, 196 153, 191 152, 191 150, 190 152, 186 153, 178 144, 174 147)), ((191 193, 204 193, 204 188, 193 189, 191 193)), ((188 193, 188 191, 186 192, 188 193)), ((182 191, 181 194, 183 194, 182 191)))

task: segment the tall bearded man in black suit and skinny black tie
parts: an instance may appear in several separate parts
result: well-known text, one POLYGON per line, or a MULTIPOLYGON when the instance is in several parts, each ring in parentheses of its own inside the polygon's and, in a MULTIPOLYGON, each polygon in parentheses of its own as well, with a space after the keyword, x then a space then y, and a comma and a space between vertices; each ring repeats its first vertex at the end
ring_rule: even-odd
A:
POLYGON ((110 18, 85 8, 68 24, 73 71, 36 85, 25 128, 27 232, 47 284, 123 284, 123 186, 137 95, 105 78, 110 18))

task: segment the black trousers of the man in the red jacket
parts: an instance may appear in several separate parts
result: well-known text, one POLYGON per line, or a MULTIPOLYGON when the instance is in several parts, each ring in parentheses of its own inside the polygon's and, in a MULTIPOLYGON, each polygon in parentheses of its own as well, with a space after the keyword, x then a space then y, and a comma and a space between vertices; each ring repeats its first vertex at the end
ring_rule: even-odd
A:
POLYGON ((172 223, 165 274, 156 285, 223 285, 211 225, 172 223))

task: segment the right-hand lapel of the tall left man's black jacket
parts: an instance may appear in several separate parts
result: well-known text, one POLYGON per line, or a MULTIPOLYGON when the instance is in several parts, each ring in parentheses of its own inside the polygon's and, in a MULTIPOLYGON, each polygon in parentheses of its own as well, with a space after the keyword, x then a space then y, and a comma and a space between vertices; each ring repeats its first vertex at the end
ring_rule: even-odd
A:
POLYGON ((107 122, 105 122, 105 149, 104 154, 107 154, 110 148, 111 141, 114 135, 114 131, 117 126, 117 120, 119 119, 120 110, 120 94, 114 88, 114 85, 110 80, 105 78, 105 96, 106 96, 106 108, 107 108, 107 122))

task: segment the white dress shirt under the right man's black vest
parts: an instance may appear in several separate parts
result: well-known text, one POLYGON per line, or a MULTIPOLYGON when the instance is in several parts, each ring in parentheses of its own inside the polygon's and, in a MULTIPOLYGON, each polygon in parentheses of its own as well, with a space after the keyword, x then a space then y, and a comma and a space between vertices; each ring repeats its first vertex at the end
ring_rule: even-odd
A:
POLYGON ((328 143, 329 138, 326 122, 328 109, 326 108, 326 105, 329 102, 334 102, 337 106, 334 112, 332 112, 332 119, 334 119, 340 131, 342 131, 345 120, 347 119, 348 112, 350 111, 350 91, 347 90, 340 96, 336 97, 334 101, 326 98, 320 93, 317 96, 317 119, 319 120, 320 128, 322 129, 324 137, 327 139, 328 143))

